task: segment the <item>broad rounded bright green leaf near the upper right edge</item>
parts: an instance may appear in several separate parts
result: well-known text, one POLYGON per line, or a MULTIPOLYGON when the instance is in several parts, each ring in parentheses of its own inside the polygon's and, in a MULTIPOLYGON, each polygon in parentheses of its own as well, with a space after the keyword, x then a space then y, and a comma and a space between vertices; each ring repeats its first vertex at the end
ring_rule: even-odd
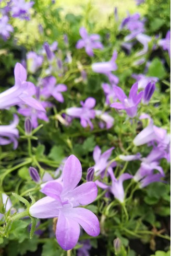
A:
POLYGON ((163 79, 166 76, 166 71, 163 63, 160 59, 154 58, 149 66, 147 73, 148 76, 155 76, 160 79, 163 79))

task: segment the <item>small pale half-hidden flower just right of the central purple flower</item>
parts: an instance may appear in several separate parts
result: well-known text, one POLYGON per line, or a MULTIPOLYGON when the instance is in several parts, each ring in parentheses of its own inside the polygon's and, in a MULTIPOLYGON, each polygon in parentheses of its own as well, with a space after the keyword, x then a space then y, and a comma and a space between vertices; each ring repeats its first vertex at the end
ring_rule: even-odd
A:
POLYGON ((106 125, 106 129, 111 129, 114 125, 114 118, 111 117, 107 112, 103 112, 102 110, 95 110, 95 116, 101 119, 103 122, 100 123, 101 129, 106 125))

